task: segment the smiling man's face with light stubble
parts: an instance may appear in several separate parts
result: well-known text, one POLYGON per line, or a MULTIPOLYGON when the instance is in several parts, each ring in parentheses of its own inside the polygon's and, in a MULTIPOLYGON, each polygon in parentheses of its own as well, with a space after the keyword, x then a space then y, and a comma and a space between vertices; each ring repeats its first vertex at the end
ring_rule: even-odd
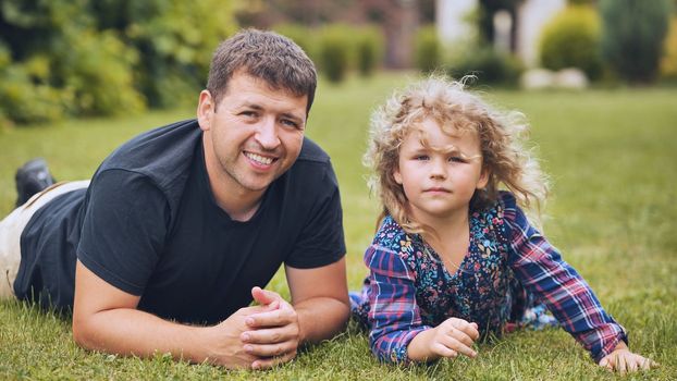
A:
POLYGON ((213 101, 205 90, 198 106, 212 188, 262 194, 298 158, 307 96, 272 89, 262 79, 236 72, 218 107, 213 101))

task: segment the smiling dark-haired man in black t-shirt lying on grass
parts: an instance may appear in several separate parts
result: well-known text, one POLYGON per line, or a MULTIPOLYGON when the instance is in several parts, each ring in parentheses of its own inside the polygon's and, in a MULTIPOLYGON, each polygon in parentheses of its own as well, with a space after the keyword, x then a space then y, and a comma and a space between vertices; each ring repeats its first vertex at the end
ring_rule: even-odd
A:
POLYGON ((0 283, 72 306, 74 340, 108 353, 263 369, 332 336, 349 307, 336 179, 304 138, 316 85, 285 37, 225 40, 197 120, 137 136, 90 184, 52 185, 0 223, 0 263, 21 251, 0 283), (292 304, 258 287, 281 263, 292 304))

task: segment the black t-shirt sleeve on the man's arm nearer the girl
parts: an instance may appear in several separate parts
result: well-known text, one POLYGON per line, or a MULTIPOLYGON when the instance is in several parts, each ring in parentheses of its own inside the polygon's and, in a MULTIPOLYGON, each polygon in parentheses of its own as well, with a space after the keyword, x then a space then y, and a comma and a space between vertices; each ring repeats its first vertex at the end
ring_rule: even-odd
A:
POLYGON ((318 189, 317 199, 310 208, 292 254, 285 260, 287 266, 297 269, 333 263, 346 251, 341 194, 330 163, 325 164, 320 183, 313 186, 318 189))

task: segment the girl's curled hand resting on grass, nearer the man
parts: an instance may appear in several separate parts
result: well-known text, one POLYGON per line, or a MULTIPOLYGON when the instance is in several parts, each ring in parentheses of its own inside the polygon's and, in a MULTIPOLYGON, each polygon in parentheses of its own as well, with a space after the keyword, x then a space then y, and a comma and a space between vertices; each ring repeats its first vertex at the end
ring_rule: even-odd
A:
POLYGON ((407 353, 410 359, 417 361, 430 361, 440 357, 455 358, 458 354, 475 358, 477 352, 472 349, 472 343, 479 336, 477 323, 450 318, 416 335, 409 343, 407 353))

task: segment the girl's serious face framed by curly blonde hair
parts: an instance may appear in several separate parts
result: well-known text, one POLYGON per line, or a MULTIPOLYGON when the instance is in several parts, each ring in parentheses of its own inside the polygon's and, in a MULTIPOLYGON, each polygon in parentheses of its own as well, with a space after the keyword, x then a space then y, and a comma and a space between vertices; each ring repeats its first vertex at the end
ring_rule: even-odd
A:
POLYGON ((414 126, 399 147, 395 181, 421 221, 467 216, 475 189, 487 185, 476 133, 448 135, 434 119, 414 126), (423 142, 421 142, 423 139, 423 142))

